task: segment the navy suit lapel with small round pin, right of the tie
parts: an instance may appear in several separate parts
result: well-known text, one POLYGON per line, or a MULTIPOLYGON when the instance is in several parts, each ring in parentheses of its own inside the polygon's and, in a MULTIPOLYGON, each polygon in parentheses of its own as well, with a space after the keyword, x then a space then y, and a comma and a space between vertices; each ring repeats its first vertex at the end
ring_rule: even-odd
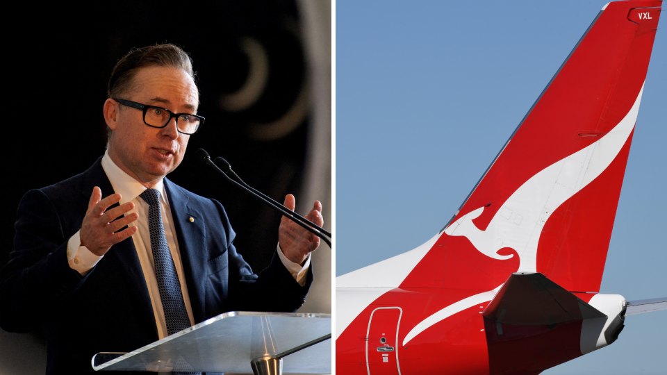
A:
POLYGON ((179 186, 164 179, 165 190, 169 199, 176 238, 179 241, 183 272, 188 283, 190 306, 195 324, 203 322, 205 315, 204 299, 206 285, 206 230, 204 215, 188 206, 188 196, 179 186), (190 219, 192 218, 192 220, 190 219))

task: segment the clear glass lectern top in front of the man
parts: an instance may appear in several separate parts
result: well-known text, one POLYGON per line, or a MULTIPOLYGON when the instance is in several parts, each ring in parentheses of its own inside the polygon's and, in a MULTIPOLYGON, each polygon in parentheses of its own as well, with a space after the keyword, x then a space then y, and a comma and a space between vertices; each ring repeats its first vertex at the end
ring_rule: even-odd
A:
POLYGON ((97 353, 92 367, 96 371, 330 374, 330 339, 330 314, 233 311, 130 353, 97 353))

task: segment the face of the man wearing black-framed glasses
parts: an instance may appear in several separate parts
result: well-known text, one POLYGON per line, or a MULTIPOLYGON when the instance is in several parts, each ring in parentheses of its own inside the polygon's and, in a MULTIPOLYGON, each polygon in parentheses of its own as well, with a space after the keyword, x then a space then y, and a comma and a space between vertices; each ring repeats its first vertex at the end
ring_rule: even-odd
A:
MULTIPOLYGON (((172 113, 197 113, 197 86, 181 69, 142 68, 134 77, 133 88, 117 99, 167 108, 172 113)), ((152 128, 144 123, 142 110, 122 107, 110 99, 105 103, 107 124, 113 130, 109 156, 130 176, 154 185, 181 164, 190 135, 176 130, 174 118, 164 128, 152 128)))

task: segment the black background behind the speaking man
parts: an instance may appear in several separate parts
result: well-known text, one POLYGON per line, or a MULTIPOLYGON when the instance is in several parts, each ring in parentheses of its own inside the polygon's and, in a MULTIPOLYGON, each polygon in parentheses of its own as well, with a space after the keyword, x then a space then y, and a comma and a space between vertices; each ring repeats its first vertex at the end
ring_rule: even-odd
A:
POLYGON ((169 42, 190 53, 206 117, 192 135, 179 169, 168 178, 226 208, 237 233, 236 247, 259 272, 277 244, 279 215, 227 185, 194 159, 202 147, 229 160, 249 185, 282 201, 299 197, 308 116, 277 140, 258 140, 253 124, 273 122, 293 107, 305 84, 305 63, 294 1, 170 3, 115 1, 76 6, 28 4, 3 26, 6 36, 3 86, 5 139, 1 158, 0 265, 13 251, 19 200, 88 169, 106 147, 102 105, 113 66, 133 47, 169 42), (243 38, 259 42, 268 57, 261 97, 245 110, 220 105, 249 73, 243 38), (8 105, 8 106, 7 106, 8 105))

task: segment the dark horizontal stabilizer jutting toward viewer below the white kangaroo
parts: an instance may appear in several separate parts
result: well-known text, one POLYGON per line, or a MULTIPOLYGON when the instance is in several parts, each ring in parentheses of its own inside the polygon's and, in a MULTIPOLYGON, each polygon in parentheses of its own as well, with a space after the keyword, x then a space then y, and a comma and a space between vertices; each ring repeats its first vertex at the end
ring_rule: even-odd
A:
POLYGON ((549 326, 607 317, 588 303, 537 272, 511 274, 484 309, 497 323, 549 326))

